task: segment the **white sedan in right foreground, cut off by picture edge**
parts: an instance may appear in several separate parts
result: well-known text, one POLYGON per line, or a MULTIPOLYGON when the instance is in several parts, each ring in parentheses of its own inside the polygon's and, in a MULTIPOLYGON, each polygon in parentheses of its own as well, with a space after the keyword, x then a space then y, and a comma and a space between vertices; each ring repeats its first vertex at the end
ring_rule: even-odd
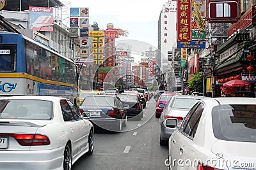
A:
MULTIPOLYGON (((175 127, 177 119, 165 125, 175 127)), ((256 99, 201 99, 168 145, 168 169, 255 169, 256 99)))

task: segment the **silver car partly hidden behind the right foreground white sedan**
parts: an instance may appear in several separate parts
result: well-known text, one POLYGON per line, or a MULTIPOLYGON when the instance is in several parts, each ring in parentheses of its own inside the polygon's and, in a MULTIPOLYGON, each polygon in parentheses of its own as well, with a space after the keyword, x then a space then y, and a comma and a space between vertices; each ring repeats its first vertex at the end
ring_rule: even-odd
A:
POLYGON ((177 127, 166 127, 166 118, 177 118, 179 127, 182 120, 188 114, 188 111, 202 98, 204 98, 204 96, 176 95, 170 99, 169 103, 163 108, 164 110, 159 118, 161 127, 160 145, 166 145, 172 133, 177 129, 177 127))

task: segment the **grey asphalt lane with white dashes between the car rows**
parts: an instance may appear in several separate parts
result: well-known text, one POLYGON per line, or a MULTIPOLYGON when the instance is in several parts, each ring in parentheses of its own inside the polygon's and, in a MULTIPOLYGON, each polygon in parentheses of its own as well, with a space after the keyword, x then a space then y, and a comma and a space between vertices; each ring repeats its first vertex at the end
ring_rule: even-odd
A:
MULTIPOLYGON (((153 104, 147 113, 154 112, 153 104)), ((151 115, 151 114, 148 114, 151 115)), ((129 121, 138 124, 140 121, 129 121)), ((77 160, 72 169, 166 169, 167 146, 159 145, 159 120, 154 117, 127 132, 97 132, 93 155, 77 160)))

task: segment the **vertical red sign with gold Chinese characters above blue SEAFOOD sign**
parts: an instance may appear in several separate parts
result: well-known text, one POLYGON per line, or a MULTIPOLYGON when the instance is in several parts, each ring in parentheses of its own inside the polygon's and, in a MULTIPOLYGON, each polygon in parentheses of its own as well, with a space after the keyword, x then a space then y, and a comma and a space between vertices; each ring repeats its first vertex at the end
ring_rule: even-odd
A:
POLYGON ((177 6, 177 42, 190 42, 191 0, 178 0, 177 6))

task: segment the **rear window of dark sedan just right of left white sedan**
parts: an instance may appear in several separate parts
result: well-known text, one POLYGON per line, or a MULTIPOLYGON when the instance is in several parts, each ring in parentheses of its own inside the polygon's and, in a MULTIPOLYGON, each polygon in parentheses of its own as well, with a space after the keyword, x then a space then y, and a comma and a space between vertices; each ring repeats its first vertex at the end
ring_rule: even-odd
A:
POLYGON ((115 106, 114 98, 110 96, 87 96, 82 106, 115 106))

